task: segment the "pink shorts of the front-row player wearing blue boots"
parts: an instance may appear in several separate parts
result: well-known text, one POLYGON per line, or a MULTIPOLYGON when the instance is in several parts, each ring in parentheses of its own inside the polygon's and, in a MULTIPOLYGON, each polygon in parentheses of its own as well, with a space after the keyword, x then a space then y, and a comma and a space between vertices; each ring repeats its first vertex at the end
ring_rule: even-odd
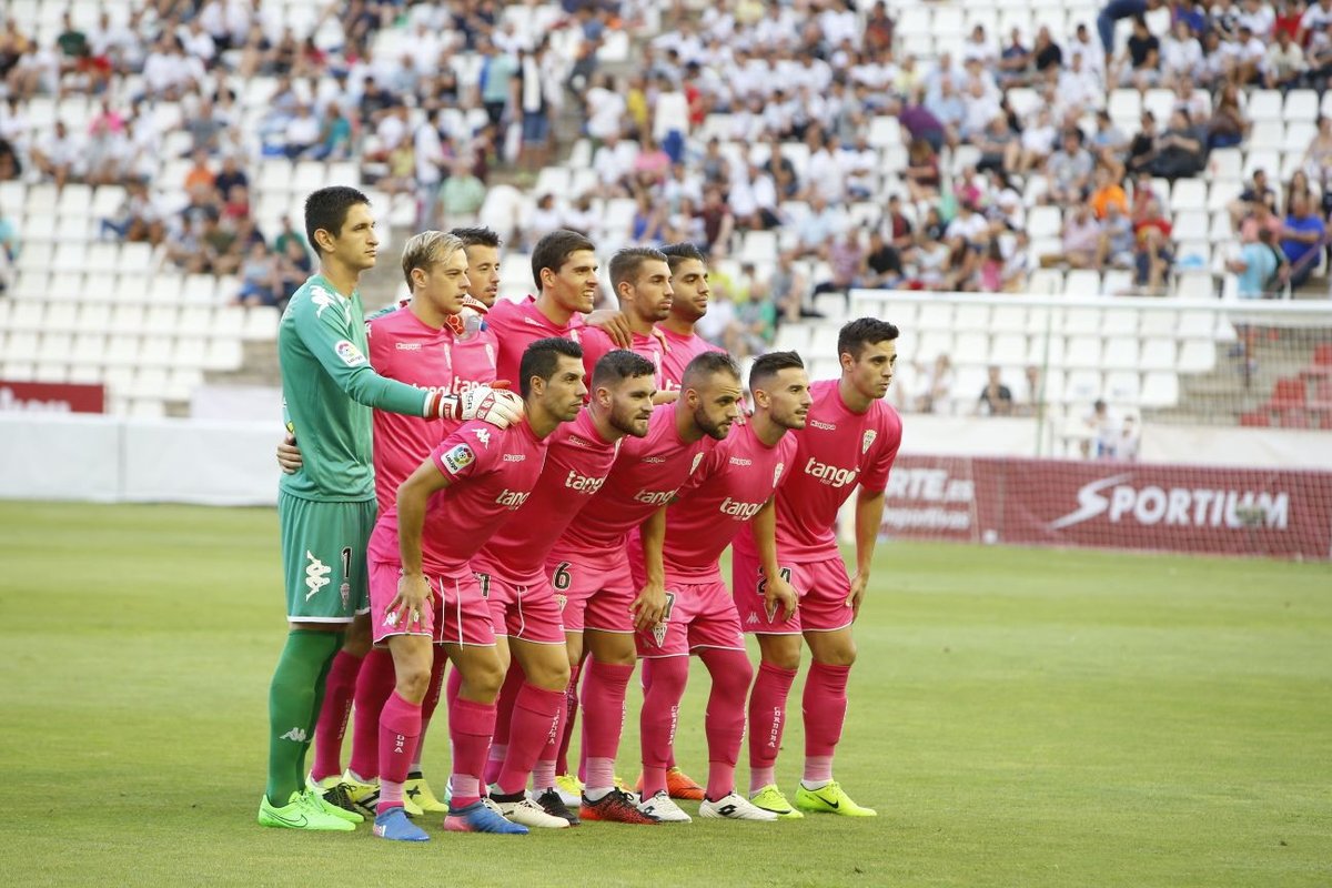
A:
POLYGON ((370 560, 370 627, 376 644, 393 635, 425 635, 436 644, 488 647, 496 643, 490 607, 470 570, 454 575, 426 574, 432 603, 416 619, 408 614, 406 623, 400 623, 398 614, 389 612, 401 576, 402 564, 370 560))

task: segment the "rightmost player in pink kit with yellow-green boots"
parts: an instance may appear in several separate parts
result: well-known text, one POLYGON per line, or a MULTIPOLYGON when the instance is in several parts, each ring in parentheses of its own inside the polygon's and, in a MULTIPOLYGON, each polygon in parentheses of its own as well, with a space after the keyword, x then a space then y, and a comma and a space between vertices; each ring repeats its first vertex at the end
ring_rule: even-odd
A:
POLYGON ((832 779, 832 754, 846 722, 847 676, 855 662, 851 624, 870 582, 883 491, 902 443, 902 419, 883 401, 896 363, 896 338, 898 328, 876 318, 842 328, 842 375, 811 386, 814 406, 805 429, 795 433, 793 474, 774 505, 754 519, 753 534, 735 541, 735 606, 762 651, 750 694, 750 800, 779 816, 875 813, 832 779), (836 514, 858 483, 855 575, 848 579, 836 545, 836 514), (787 618, 775 604, 791 595, 799 607, 787 618), (793 808, 774 770, 802 635, 813 662, 805 682, 805 776, 793 808))

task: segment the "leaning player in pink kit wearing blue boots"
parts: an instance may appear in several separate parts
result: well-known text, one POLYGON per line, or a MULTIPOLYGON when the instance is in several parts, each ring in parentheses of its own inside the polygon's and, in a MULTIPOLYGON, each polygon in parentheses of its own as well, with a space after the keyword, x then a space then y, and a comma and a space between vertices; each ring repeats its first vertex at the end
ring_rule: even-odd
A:
POLYGON ((402 483, 397 506, 380 517, 370 535, 374 640, 388 643, 397 674, 394 694, 380 714, 374 832, 385 839, 429 839, 406 819, 402 784, 420 740, 432 644, 444 644, 462 674, 462 690, 449 706, 453 799, 445 828, 527 832, 481 803, 481 771, 503 670, 490 608, 469 562, 527 501, 545 463, 546 441, 559 423, 577 418, 587 387, 582 349, 569 339, 529 345, 519 373, 526 422, 505 430, 464 423, 402 483))

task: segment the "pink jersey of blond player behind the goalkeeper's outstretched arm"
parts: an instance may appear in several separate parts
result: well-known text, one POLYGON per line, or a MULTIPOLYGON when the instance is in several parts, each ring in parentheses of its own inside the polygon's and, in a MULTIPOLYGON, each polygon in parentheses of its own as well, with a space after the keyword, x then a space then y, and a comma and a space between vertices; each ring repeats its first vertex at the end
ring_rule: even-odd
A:
MULTIPOLYGON (((401 308, 365 325, 370 366, 382 377, 422 389, 453 389, 453 332, 436 330, 401 308)), ((456 425, 456 423, 449 423, 456 425)), ((442 419, 374 411, 374 498, 380 511, 397 501, 398 486, 449 433, 442 419)))

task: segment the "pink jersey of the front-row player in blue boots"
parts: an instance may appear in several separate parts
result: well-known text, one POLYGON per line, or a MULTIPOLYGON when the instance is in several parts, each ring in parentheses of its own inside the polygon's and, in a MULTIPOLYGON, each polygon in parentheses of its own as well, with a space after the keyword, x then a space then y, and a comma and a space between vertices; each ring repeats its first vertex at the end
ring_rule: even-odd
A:
MULTIPOLYGON (((541 477, 546 442, 538 441, 526 422, 496 429, 473 419, 445 438, 429 458, 453 483, 434 494, 426 507, 422 567, 428 574, 456 574, 527 502, 541 477)), ((376 522, 369 554, 376 560, 401 558, 396 505, 376 522)))

